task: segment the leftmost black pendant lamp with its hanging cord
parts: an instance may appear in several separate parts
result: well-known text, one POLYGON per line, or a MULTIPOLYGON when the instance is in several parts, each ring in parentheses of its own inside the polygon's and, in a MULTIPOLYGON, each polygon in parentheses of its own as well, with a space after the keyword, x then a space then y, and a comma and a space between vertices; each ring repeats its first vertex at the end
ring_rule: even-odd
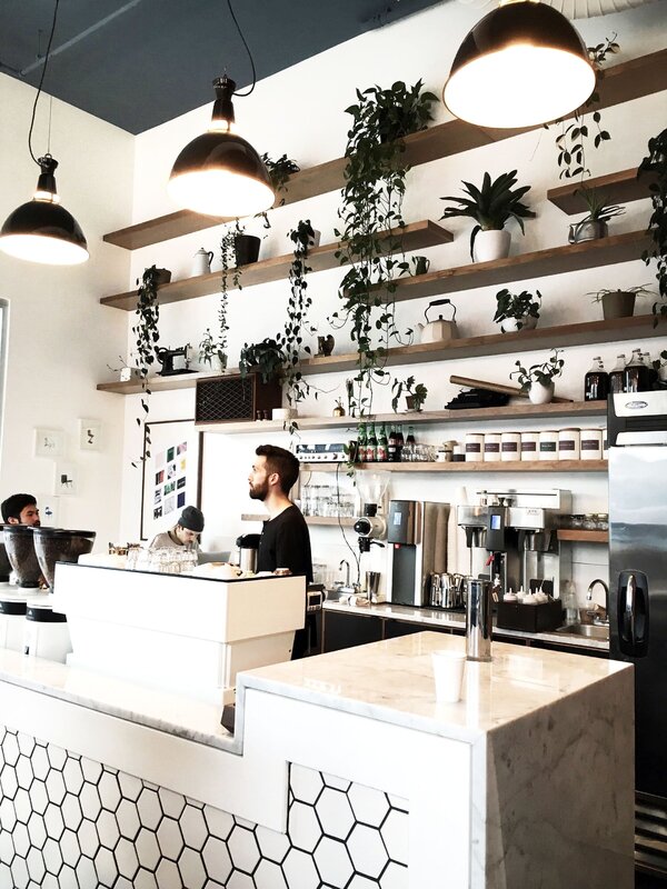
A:
POLYGON ((41 170, 37 180, 37 191, 31 201, 22 203, 4 220, 4 224, 0 230, 0 250, 18 259, 26 259, 29 262, 41 262, 50 266, 76 266, 80 262, 86 262, 89 257, 86 238, 74 217, 64 207, 60 206, 54 177, 58 161, 50 153, 44 154, 42 158, 36 158, 32 153, 31 141, 34 112, 44 82, 51 41, 56 31, 59 1, 56 0, 51 34, 39 88, 32 106, 32 119, 28 132, 30 156, 41 170))

